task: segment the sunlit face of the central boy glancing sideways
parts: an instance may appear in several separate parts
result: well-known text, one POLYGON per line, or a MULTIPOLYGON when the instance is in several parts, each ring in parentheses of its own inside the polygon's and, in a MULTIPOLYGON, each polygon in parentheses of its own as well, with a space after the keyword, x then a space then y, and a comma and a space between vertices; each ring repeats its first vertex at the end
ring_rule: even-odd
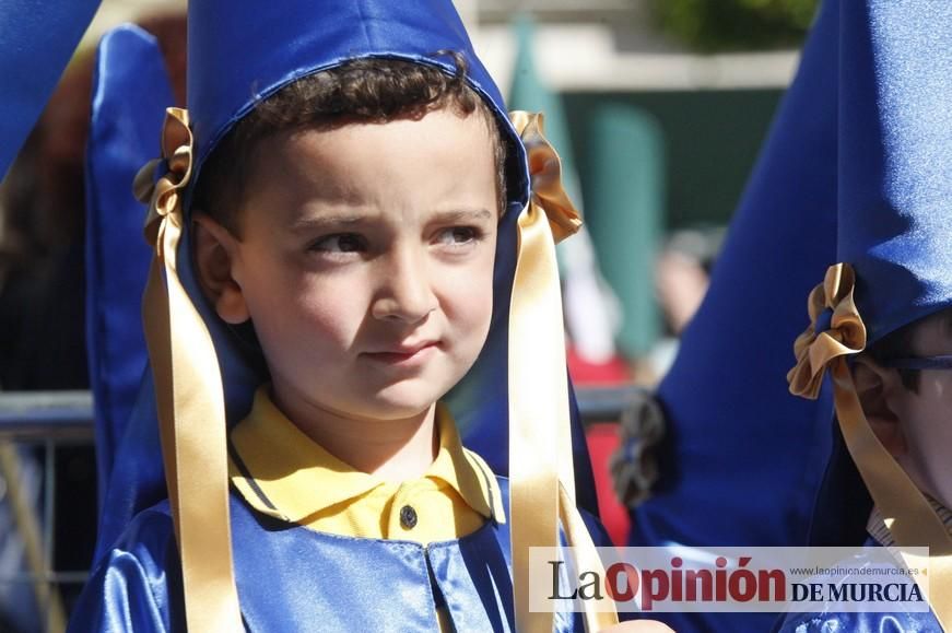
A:
POLYGON ((257 146, 218 307, 251 319, 298 424, 419 414, 475 361, 498 221, 487 126, 442 109, 257 146))

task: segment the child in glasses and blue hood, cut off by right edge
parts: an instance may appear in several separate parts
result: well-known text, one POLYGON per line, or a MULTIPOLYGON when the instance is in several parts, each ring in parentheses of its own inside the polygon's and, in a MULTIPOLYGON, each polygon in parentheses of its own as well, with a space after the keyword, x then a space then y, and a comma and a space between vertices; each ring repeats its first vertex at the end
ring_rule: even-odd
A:
POLYGON ((952 8, 843 2, 839 47, 844 263, 810 295, 788 376, 810 398, 830 371, 842 432, 813 540, 860 544, 849 534, 859 523, 869 544, 928 547, 928 561, 907 558, 928 562, 916 582, 928 582, 931 612, 839 613, 831 602, 787 616, 781 630, 938 632, 952 626, 952 8))

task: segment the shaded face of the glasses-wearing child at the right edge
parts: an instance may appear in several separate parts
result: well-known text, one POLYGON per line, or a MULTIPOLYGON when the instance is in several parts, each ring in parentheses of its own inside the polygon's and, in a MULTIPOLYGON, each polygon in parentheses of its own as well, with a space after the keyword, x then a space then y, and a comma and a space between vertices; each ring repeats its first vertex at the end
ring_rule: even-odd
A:
MULTIPOLYGON (((913 336, 910 355, 952 353, 952 335, 939 315, 926 318, 913 336)), ((904 450, 896 461, 914 483, 952 507, 952 372, 924 370, 918 392, 896 389, 893 396, 904 450)))

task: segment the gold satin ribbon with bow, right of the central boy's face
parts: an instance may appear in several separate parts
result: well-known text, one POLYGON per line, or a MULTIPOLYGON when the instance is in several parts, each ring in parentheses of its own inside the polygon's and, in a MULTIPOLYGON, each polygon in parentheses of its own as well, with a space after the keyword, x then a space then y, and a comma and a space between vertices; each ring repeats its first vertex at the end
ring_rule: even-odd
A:
MULTIPOLYGON (((559 155, 542 115, 514 112, 529 161, 532 196, 518 219, 518 257, 509 305, 509 504, 516 629, 549 633, 553 614, 529 611, 529 548, 557 547, 559 517, 578 568, 601 571, 575 502, 575 472, 556 242, 581 219, 562 188, 559 155), (560 503, 561 497, 561 503, 560 503), (586 566, 587 565, 587 566, 586 566)), ((587 606, 588 609, 588 606, 587 606)), ((614 612, 586 611, 589 631, 618 623, 614 612)))

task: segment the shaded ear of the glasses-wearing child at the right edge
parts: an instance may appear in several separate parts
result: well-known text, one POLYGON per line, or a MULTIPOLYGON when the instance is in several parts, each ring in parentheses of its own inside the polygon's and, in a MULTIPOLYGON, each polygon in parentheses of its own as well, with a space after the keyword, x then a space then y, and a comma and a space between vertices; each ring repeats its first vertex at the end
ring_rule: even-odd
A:
POLYGON ((862 412, 883 447, 893 457, 905 455, 906 439, 896 405, 906 388, 898 371, 880 365, 869 354, 860 354, 853 365, 853 382, 862 412))

